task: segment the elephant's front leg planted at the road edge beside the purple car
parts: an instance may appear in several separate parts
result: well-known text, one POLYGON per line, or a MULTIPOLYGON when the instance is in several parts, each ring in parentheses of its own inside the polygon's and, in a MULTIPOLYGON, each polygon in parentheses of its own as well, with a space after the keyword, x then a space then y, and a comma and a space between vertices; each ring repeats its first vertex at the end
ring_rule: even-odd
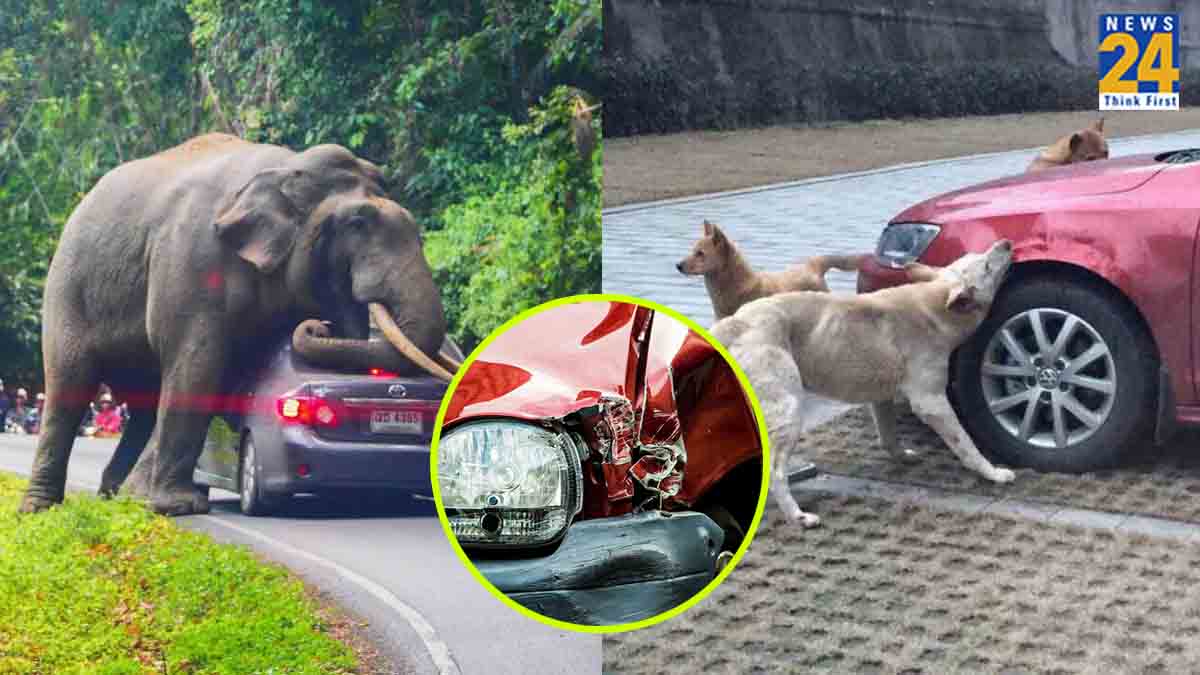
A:
MULTIPOLYGON (((193 330, 193 334, 199 330, 193 330)), ((157 420, 125 489, 164 515, 209 512, 208 488, 192 480, 223 371, 221 351, 187 351, 164 369, 157 420)))

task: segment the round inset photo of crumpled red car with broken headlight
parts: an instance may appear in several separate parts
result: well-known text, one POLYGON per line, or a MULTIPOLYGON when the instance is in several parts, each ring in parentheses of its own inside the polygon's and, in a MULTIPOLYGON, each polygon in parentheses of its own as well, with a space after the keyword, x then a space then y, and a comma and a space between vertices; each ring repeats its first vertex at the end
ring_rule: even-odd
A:
POLYGON ((650 626, 732 572, 762 516, 767 434, 695 322, 575 295, 500 327, 450 383, 432 444, 442 525, 514 609, 586 632, 650 626))

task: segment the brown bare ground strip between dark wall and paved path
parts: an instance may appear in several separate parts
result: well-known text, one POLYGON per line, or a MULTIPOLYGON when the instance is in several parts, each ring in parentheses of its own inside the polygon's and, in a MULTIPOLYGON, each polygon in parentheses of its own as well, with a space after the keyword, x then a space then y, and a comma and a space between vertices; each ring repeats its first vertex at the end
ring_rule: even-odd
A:
MULTIPOLYGON (((1098 115, 1096 110, 1024 113, 606 138, 604 205, 1045 147, 1098 115)), ((1104 115, 1110 138, 1200 127, 1200 108, 1104 115)))

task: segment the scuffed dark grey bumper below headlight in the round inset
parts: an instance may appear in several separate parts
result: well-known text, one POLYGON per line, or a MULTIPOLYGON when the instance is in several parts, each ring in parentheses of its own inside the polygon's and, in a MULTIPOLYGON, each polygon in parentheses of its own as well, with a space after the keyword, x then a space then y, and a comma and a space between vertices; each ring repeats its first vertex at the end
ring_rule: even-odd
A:
POLYGON ((548 556, 480 560, 497 589, 552 619, 612 626, 649 619, 716 574, 725 533, 702 513, 648 512, 571 525, 548 556))

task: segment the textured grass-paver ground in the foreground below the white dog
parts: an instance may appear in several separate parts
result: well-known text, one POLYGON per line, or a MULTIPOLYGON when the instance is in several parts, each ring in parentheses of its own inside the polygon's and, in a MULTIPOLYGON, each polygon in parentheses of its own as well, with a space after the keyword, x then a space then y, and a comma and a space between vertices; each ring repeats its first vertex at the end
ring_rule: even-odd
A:
POLYGON ((605 639, 606 673, 1186 673, 1200 546, 817 496, 768 508, 730 579, 683 616, 605 639))

